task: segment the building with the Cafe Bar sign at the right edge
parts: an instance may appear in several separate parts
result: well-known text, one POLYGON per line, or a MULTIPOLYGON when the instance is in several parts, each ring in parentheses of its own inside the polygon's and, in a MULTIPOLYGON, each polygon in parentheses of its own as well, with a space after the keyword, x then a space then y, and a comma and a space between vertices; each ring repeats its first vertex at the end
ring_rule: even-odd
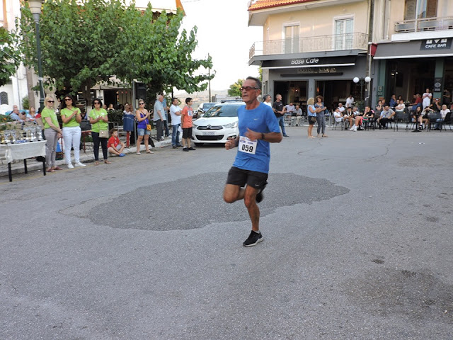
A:
POLYGON ((375 7, 384 13, 374 36, 376 96, 411 100, 430 89, 433 98, 449 103, 444 94, 453 90, 453 1, 379 0, 375 7))

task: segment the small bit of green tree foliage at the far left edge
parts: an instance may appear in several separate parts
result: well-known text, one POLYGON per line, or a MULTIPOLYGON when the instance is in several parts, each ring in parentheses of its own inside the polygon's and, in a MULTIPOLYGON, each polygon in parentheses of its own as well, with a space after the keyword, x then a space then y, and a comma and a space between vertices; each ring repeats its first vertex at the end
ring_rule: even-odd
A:
POLYGON ((0 86, 10 81, 9 77, 16 73, 21 55, 16 46, 16 35, 0 27, 0 86))

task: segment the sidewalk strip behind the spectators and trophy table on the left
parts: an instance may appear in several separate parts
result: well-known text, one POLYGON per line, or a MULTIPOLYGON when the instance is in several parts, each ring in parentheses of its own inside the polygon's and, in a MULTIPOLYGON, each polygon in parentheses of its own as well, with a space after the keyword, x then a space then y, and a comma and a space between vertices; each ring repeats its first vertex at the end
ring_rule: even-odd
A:
MULTIPOLYGON (((161 142, 157 142, 156 140, 153 140, 153 142, 156 147, 155 148, 150 147, 150 149, 156 149, 161 146, 166 147, 168 145, 171 145, 171 136, 165 137, 165 140, 163 140, 161 142)), ((145 149, 144 145, 140 145, 140 152, 144 151, 144 149, 145 149)), ((135 152, 137 152, 137 147, 135 145, 133 147, 125 148, 125 150, 124 150, 125 154, 134 154, 135 152)), ((102 159, 101 146, 99 146, 99 157, 100 157, 99 159, 102 159)), ((109 155, 109 157, 110 157, 110 155, 109 155)), ((73 156, 73 160, 74 160, 74 156, 73 156)), ((85 162, 93 162, 93 161, 94 161, 94 154, 93 154, 92 147, 87 147, 86 152, 84 152, 84 150, 80 150, 80 162, 85 163, 85 162)), ((64 159, 61 159, 55 163, 58 166, 62 166, 62 167, 66 166, 64 164, 64 159)), ((28 171, 41 170, 42 162, 36 162, 35 159, 27 159, 27 169, 28 169, 28 171)), ((13 175, 25 173, 22 160, 14 161, 13 163, 11 163, 11 173, 13 175)), ((8 176, 8 163, 6 163, 5 159, 0 159, 0 176, 8 176)), ((14 181, 14 177, 13 177, 13 181, 14 181)))

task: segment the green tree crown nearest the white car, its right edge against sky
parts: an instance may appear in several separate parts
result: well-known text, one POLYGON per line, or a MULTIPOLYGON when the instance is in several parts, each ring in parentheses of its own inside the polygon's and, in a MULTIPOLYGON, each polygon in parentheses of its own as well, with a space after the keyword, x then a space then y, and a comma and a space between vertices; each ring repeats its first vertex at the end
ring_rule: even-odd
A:
POLYGON ((212 67, 207 60, 192 59, 197 47, 197 28, 190 33, 179 33, 183 12, 168 15, 165 11, 154 18, 151 4, 144 12, 131 5, 125 16, 127 26, 122 35, 127 48, 119 51, 112 61, 117 66, 117 77, 132 82, 137 80, 147 86, 147 101, 153 102, 158 92, 170 92, 173 87, 188 93, 207 88, 207 74, 197 74, 201 67, 212 67), (127 60, 127 63, 125 63, 127 60))

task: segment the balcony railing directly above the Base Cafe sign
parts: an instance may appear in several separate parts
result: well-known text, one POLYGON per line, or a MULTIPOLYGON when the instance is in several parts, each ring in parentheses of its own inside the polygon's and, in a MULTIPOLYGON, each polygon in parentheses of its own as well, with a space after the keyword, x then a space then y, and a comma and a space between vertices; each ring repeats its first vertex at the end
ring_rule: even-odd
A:
POLYGON ((249 58, 255 55, 284 55, 290 53, 324 52, 343 50, 367 50, 368 35, 349 33, 321 35, 299 39, 282 39, 255 42, 249 50, 249 58))

